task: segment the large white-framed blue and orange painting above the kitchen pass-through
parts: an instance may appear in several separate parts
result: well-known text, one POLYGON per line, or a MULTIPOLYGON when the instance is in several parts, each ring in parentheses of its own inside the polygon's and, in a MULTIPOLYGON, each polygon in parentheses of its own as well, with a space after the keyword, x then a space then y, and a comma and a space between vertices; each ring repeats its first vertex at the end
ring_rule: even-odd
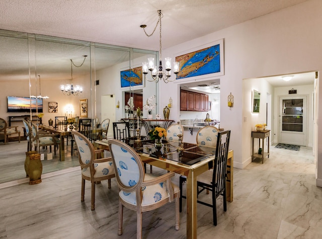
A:
MULTIPOLYGON (((219 76, 224 74, 223 67, 223 39, 200 46, 200 50, 176 57, 176 61, 180 62, 177 80, 187 77, 198 77, 209 75, 219 76)), ((200 77, 204 78, 204 77, 200 77)))

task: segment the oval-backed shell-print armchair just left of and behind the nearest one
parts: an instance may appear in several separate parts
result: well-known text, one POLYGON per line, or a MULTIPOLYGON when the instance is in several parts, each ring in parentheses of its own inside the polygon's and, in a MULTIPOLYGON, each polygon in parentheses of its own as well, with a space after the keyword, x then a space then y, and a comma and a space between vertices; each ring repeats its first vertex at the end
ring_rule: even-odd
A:
POLYGON ((91 181, 91 209, 95 210, 95 183, 108 180, 108 188, 111 188, 111 178, 115 177, 111 158, 98 159, 104 150, 95 150, 91 141, 79 132, 71 132, 78 149, 79 164, 82 168, 82 192, 81 201, 84 201, 85 180, 91 181))

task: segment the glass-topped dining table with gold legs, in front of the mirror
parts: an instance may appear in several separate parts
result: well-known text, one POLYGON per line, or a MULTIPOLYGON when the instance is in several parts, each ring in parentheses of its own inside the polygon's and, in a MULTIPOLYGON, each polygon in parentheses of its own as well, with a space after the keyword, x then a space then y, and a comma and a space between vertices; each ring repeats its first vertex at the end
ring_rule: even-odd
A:
MULTIPOLYGON (((108 140, 95 141, 99 149, 108 148, 108 140)), ((186 238, 197 238, 197 176, 211 169, 214 161, 215 148, 191 143, 163 141, 160 150, 155 149, 153 142, 138 140, 133 148, 143 163, 175 172, 187 177, 187 231, 186 238), (183 148, 183 149, 182 149, 183 148)), ((226 200, 233 200, 233 151, 228 152, 226 200)))

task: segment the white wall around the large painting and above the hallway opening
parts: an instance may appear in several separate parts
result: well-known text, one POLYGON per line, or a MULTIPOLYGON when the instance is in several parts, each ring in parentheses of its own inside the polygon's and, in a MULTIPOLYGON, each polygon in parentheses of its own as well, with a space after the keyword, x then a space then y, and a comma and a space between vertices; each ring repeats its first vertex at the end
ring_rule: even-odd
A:
MULTIPOLYGON (((224 39, 225 74, 219 77, 220 127, 231 130, 230 149, 234 150, 235 167, 244 168, 249 163, 254 127, 253 123, 243 121, 243 116, 248 113, 244 104, 249 104, 241 90, 243 79, 321 69, 322 32, 318 31, 322 24, 321 9, 322 1, 307 1, 163 51, 164 56, 174 59, 178 52, 224 39), (226 106, 230 92, 234 95, 231 110, 226 106)), ((168 102, 170 96, 174 99, 175 120, 179 119, 180 112, 178 82, 181 80, 168 84, 162 82, 160 92, 163 93, 159 94, 161 104, 168 102)), ((318 101, 322 103, 322 97, 318 101)), ((318 137, 322 137, 322 129, 318 130, 318 137)), ((322 145, 318 146, 317 157, 322 158, 322 145)), ((317 175, 317 185, 322 186, 322 165, 319 167, 318 162, 317 175)))

